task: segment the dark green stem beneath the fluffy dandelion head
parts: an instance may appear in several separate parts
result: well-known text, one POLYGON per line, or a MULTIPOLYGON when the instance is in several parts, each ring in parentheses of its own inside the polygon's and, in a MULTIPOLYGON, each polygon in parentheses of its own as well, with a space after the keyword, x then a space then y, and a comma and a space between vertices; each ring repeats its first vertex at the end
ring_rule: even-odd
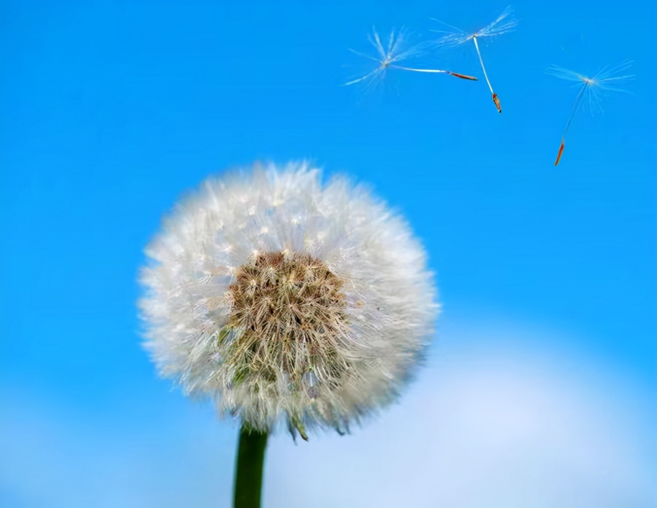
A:
POLYGON ((260 508, 265 446, 267 432, 260 432, 243 423, 235 463, 234 508, 260 508))

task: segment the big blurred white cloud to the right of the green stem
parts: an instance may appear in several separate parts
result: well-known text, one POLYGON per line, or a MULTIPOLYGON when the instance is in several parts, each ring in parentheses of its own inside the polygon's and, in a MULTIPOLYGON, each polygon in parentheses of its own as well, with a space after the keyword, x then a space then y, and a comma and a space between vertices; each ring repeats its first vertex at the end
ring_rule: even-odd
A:
POLYGON ((657 505, 641 394, 581 361, 573 369, 577 362, 569 368, 510 344, 495 352, 464 344, 443 349, 451 362, 436 357, 442 368, 353 435, 272 442, 265 505, 657 505))

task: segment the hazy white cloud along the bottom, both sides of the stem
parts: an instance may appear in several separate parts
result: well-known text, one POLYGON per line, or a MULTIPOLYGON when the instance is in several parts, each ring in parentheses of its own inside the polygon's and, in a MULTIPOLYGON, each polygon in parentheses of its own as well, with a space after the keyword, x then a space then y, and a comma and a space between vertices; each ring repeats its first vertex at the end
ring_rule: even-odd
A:
MULTIPOLYGON (((351 435, 272 438, 263 506, 657 505, 654 392, 535 336, 496 337, 443 331, 401 404, 351 435)), ((153 386, 97 414, 3 397, 0 504, 228 507, 237 428, 153 386)))

